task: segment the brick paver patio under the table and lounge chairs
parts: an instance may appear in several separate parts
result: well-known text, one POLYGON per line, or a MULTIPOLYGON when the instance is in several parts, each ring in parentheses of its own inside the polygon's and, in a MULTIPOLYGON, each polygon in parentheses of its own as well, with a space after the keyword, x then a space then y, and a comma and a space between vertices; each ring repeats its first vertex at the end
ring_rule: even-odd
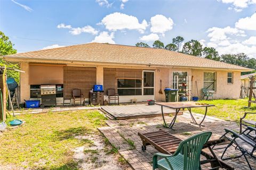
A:
MULTIPOLYGON (((202 120, 203 116, 200 114, 194 114, 195 118, 202 120)), ((166 121, 170 123, 173 117, 165 116, 166 121)), ((184 112, 183 115, 178 116, 177 122, 173 126, 175 131, 170 129, 165 129, 170 131, 178 138, 186 139, 193 134, 202 131, 211 131, 213 135, 210 140, 219 139, 219 137, 225 133, 224 129, 231 129, 239 131, 238 125, 235 122, 228 122, 220 120, 219 118, 206 116, 203 125, 199 127, 198 125, 193 125, 190 123, 191 118, 189 113, 184 112)), ((163 126, 162 117, 150 117, 150 118, 134 118, 129 120, 108 120, 106 127, 99 128, 100 132, 105 135, 109 142, 115 147, 119 148, 119 153, 127 160, 133 169, 152 169, 151 161, 153 155, 158 152, 151 146, 147 146, 147 150, 143 152, 141 150, 142 141, 138 136, 138 132, 146 133, 159 130, 163 126), (131 139, 135 143, 135 149, 131 149, 131 146, 125 142, 124 138, 131 139)), ((205 151, 209 151, 205 149, 205 151)), ((215 154, 220 158, 223 149, 214 150, 215 154)), ((239 155, 240 152, 234 148, 228 149, 227 154, 229 156, 239 155)), ((256 160, 249 158, 249 162, 253 168, 256 168, 256 160)), ((202 156, 202 159, 204 157, 202 156)), ((226 160, 226 163, 233 166, 235 169, 249 169, 244 157, 226 160)), ((203 169, 210 169, 210 164, 205 164, 202 166, 203 169)))

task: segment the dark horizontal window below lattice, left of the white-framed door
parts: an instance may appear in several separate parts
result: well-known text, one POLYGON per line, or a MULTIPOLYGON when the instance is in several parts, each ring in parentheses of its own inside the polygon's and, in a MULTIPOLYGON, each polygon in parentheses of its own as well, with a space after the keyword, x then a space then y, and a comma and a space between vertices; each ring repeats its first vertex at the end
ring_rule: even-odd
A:
POLYGON ((119 96, 142 95, 142 81, 140 79, 117 79, 117 92, 119 96))

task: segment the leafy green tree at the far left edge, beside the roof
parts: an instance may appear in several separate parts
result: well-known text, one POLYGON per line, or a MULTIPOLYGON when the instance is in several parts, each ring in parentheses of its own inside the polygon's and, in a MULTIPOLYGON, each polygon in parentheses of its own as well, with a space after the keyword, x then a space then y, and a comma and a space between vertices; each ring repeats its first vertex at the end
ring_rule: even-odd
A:
MULTIPOLYGON (((5 36, 4 33, 0 31, 0 56, 17 53, 17 50, 14 49, 13 46, 14 44, 12 44, 12 42, 9 40, 9 37, 5 36)), ((6 62, 3 60, 3 58, 0 59, 0 65, 1 66, 6 65, 7 67, 19 69, 18 65, 6 62)), ((10 78, 10 77, 14 78, 15 81, 19 83, 19 80, 20 80, 19 72, 7 70, 6 74, 7 74, 7 78, 10 78)))

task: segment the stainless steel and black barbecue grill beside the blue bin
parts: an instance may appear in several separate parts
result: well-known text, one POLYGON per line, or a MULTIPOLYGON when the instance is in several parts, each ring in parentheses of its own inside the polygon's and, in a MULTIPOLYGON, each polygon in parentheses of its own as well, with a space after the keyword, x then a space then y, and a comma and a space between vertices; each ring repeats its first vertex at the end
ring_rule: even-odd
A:
POLYGON ((56 85, 41 85, 41 99, 41 108, 44 108, 44 106, 56 106, 56 85))

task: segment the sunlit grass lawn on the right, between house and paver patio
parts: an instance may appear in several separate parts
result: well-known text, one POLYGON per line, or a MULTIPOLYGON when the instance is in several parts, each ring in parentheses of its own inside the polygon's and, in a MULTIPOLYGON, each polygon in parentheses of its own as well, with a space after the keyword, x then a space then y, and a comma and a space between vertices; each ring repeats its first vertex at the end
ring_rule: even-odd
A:
MULTIPOLYGON (((256 112, 256 104, 252 103, 251 108, 247 108, 248 99, 219 99, 219 100, 200 100, 198 102, 213 104, 209 107, 207 115, 215 116, 227 121, 238 121, 244 112, 256 112)), ((204 114, 205 108, 193 108, 192 112, 204 114)), ((255 115, 247 115, 247 119, 256 121, 255 115)))

